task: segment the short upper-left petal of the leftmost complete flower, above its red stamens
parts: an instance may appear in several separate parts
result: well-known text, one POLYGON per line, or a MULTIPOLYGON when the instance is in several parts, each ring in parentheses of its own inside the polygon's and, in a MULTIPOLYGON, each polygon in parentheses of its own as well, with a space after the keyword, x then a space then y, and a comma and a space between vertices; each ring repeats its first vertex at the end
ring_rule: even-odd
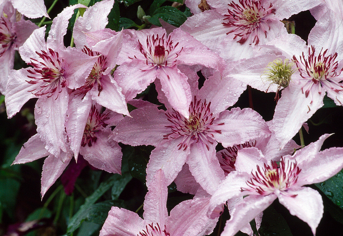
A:
POLYGON ((47 51, 45 43, 45 29, 45 26, 35 29, 30 37, 28 37, 28 39, 25 41, 23 46, 19 48, 19 54, 26 63, 31 62, 30 58, 36 60, 39 58, 39 56, 36 54, 36 51, 47 51))

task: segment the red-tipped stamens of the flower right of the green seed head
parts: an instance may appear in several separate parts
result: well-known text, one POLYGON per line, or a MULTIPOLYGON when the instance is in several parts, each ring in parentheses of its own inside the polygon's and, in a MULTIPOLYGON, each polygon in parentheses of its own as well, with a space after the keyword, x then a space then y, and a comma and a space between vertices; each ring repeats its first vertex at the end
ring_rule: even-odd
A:
MULTIPOLYGON (((340 69, 338 68, 338 61, 336 61, 338 54, 335 52, 334 54, 327 55, 327 52, 328 49, 323 51, 322 48, 318 56, 316 56, 316 49, 314 46, 311 46, 308 48, 308 57, 305 57, 304 52, 300 56, 300 60, 298 60, 295 55, 293 56, 293 60, 299 68, 300 76, 313 82, 307 84, 305 87, 306 97, 313 84, 320 83, 322 86, 325 81, 336 83, 341 81, 340 78, 337 78, 343 71, 343 67, 340 69)), ((304 92, 304 87, 302 89, 304 92)))

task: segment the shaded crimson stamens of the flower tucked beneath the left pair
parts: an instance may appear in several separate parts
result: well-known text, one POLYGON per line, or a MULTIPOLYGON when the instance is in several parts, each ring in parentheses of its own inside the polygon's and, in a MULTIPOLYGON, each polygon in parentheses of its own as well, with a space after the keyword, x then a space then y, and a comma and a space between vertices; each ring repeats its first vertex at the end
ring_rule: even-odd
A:
POLYGON ((106 120, 109 119, 109 113, 100 113, 96 106, 92 105, 91 112, 88 116, 85 130, 83 131, 83 137, 81 146, 92 146, 92 143, 96 142, 96 132, 103 127, 107 126, 106 120))

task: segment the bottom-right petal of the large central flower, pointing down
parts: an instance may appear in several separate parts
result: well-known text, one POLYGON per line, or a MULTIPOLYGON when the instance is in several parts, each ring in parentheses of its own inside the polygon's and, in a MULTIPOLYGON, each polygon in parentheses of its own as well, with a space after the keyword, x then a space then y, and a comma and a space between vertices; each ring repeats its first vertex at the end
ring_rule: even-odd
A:
POLYGON ((191 144, 190 154, 186 160, 195 180, 210 194, 217 190, 225 178, 224 171, 215 156, 217 142, 214 140, 212 142, 213 144, 208 144, 209 150, 202 142, 191 144))

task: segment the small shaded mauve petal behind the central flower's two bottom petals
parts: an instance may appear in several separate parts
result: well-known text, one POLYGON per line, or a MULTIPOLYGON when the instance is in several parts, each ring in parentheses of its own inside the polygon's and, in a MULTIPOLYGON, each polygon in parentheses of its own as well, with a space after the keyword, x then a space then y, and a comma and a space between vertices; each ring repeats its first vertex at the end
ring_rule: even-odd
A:
POLYGON ((198 189, 200 188, 200 185, 194 179, 192 173, 189 171, 188 164, 184 164, 182 166, 182 169, 174 179, 174 182, 176 184, 177 190, 183 193, 196 194, 198 189))

